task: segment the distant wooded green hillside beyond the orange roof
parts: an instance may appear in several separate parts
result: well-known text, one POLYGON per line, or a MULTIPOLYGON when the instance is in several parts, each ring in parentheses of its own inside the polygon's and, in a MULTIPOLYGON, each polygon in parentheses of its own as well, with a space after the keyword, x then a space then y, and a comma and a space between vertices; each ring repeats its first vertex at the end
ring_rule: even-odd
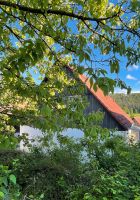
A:
POLYGON ((111 96, 130 116, 140 116, 140 93, 113 94, 111 96))

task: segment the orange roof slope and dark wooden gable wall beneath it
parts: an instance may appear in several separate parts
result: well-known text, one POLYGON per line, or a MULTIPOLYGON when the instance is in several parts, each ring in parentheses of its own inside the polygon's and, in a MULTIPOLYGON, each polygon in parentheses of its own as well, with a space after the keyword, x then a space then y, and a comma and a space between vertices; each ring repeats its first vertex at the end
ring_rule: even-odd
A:
POLYGON ((110 96, 105 96, 101 89, 95 92, 90 87, 90 82, 85 75, 79 75, 80 80, 87 87, 87 98, 89 106, 86 113, 92 111, 104 112, 104 119, 102 126, 109 129, 117 129, 118 131, 128 131, 133 124, 133 120, 126 114, 126 112, 113 100, 110 96))

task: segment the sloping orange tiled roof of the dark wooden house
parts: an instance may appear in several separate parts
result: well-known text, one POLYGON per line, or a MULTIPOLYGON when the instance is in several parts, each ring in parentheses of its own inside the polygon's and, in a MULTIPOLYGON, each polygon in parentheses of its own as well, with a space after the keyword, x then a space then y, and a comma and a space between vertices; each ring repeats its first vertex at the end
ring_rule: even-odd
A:
POLYGON ((94 89, 90 86, 90 82, 87 80, 85 75, 79 75, 79 78, 86 85, 88 90, 121 126, 123 126, 126 130, 132 126, 134 123, 133 120, 110 96, 105 96, 103 91, 99 88, 95 92, 94 89))

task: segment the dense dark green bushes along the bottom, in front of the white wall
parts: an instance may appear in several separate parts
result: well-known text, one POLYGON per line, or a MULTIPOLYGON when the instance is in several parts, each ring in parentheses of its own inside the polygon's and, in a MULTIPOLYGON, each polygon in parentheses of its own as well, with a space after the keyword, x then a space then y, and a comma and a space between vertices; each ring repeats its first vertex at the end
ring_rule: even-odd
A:
MULTIPOLYGON (((14 173, 22 196, 43 199, 139 199, 140 145, 120 137, 92 140, 92 136, 17 155, 14 173), (21 176, 22 173, 22 176, 21 176)), ((64 141, 64 140, 63 140, 64 141)), ((6 157, 6 154, 5 154, 6 157)), ((10 162, 10 160, 9 160, 10 162)))

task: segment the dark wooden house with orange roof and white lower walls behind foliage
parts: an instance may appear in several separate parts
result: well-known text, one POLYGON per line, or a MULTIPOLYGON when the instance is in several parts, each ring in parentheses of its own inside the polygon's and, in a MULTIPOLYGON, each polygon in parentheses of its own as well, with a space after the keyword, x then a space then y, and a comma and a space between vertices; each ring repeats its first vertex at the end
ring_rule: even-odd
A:
MULTIPOLYGON (((71 68, 68 68, 70 75, 73 73, 71 68)), ((101 89, 97 89, 95 92, 90 85, 90 81, 84 74, 79 75, 80 82, 85 85, 85 94, 89 102, 88 107, 85 110, 85 114, 89 114, 93 111, 102 111, 104 113, 104 119, 102 127, 115 130, 117 134, 121 134, 127 138, 134 138, 135 140, 140 139, 140 123, 138 119, 132 120, 129 115, 111 98, 105 96, 101 89), (133 127, 133 128, 132 128, 133 127)), ((34 129, 29 126, 21 126, 20 134, 28 133, 29 139, 41 136, 42 133, 38 129, 34 129)), ((81 137, 82 131, 78 129, 67 129, 64 134, 70 136, 81 137)), ((24 148, 23 143, 21 148, 24 148)))

